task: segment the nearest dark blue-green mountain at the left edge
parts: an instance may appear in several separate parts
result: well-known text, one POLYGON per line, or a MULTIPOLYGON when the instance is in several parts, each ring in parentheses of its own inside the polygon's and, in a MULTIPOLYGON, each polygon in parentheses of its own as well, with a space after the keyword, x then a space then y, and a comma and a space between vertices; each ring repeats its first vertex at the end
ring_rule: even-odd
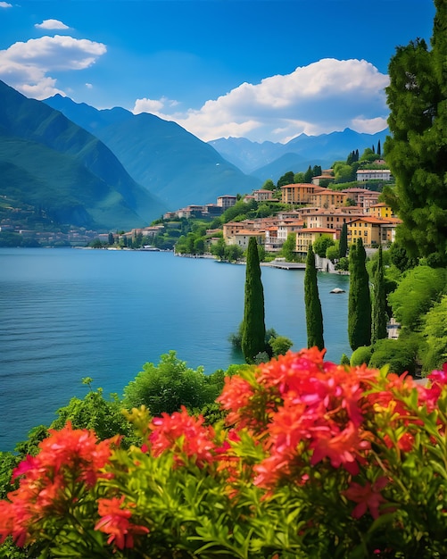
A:
POLYGON ((64 224, 129 229, 166 211, 98 138, 3 81, 0 172, 3 196, 64 224))

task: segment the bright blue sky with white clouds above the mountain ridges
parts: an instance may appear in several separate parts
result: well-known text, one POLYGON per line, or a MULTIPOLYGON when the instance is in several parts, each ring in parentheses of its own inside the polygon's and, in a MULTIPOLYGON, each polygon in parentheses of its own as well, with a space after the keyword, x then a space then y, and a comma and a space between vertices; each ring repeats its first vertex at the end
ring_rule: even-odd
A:
POLYGON ((0 79, 153 113, 204 141, 386 127, 395 47, 432 0, 0 1, 0 79))

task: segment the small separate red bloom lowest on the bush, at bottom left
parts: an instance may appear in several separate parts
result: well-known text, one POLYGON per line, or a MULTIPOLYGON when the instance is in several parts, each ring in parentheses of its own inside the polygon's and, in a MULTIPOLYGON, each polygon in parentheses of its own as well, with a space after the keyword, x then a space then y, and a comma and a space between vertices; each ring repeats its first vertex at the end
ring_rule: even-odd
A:
POLYGON ((95 524, 95 530, 109 534, 108 544, 114 543, 119 549, 134 546, 134 535, 147 534, 145 526, 132 524, 132 513, 123 508, 124 496, 98 500, 98 513, 102 517, 95 524))

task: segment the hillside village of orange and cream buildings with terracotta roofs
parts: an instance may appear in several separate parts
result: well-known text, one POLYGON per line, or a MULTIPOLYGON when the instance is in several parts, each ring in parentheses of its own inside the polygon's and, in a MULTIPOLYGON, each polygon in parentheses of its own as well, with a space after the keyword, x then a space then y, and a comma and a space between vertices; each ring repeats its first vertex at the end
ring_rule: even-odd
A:
MULTIPOLYGON (((385 163, 377 161, 376 163, 385 163)), ((356 172, 358 186, 334 190, 320 186, 334 180, 332 169, 311 179, 311 183, 287 184, 280 188, 280 198, 269 189, 252 191, 242 199, 245 203, 254 202, 286 205, 289 210, 280 210, 269 217, 228 221, 221 229, 207 229, 205 252, 210 252, 211 245, 219 241, 220 235, 227 246, 238 246, 243 251, 247 248, 250 238, 254 237, 264 246, 268 253, 279 253, 287 237, 295 235, 294 253, 305 256, 310 244, 328 236, 334 241, 340 238, 343 224, 347 225, 348 243, 362 238, 366 247, 391 244, 395 237, 395 229, 401 222, 394 214, 391 206, 379 202, 380 192, 362 188, 366 181, 392 181, 391 171, 387 169, 359 169, 356 172), (296 206, 296 207, 294 207, 296 206)), ((234 206, 238 196, 219 196, 216 204, 188 205, 174 212, 165 213, 163 222, 144 229, 132 229, 121 235, 131 242, 137 235, 143 236, 144 244, 150 245, 153 238, 160 235, 163 229, 170 227, 171 220, 182 218, 212 219, 234 206)), ((107 236, 100 238, 106 242, 107 236)), ((128 243, 126 243, 127 245, 128 243)))

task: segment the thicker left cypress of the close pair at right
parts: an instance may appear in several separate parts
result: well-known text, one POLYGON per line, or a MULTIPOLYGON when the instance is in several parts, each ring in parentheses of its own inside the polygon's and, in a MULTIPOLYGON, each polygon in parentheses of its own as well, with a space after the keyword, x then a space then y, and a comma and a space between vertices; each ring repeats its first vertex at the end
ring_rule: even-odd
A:
POLYGON ((349 250, 348 338, 352 351, 371 344, 371 298, 361 238, 349 250))

